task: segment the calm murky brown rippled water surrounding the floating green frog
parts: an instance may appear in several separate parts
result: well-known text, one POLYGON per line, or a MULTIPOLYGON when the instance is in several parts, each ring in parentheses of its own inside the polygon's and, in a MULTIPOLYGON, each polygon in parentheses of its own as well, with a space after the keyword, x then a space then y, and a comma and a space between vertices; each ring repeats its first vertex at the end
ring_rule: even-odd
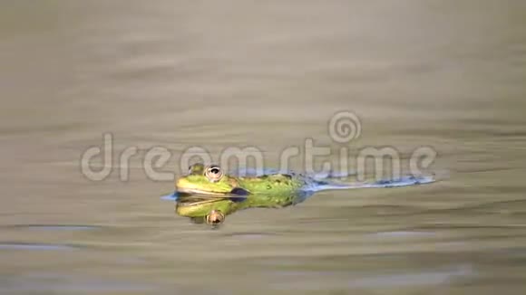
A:
MULTIPOLYGON (((0 3, 0 293, 523 294, 521 1, 0 3), (190 224, 141 155, 431 146, 430 186, 317 194, 190 224), (139 147, 130 179, 84 150, 139 147), (96 163, 95 163, 96 164, 96 163), (54 225, 54 226, 42 226, 54 225), (74 225, 74 226, 73 226, 74 225), (77 226, 77 227, 75 227, 77 226)), ((291 164, 301 168, 301 161, 291 164)))

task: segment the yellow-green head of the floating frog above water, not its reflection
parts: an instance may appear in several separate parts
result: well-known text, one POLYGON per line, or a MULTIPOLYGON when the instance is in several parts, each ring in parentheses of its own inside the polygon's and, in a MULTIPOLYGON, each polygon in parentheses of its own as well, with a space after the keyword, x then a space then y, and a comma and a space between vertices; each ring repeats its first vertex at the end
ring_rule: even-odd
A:
POLYGON ((245 195, 238 181, 226 176, 217 165, 194 164, 189 167, 189 174, 180 177, 175 186, 182 195, 245 195))

